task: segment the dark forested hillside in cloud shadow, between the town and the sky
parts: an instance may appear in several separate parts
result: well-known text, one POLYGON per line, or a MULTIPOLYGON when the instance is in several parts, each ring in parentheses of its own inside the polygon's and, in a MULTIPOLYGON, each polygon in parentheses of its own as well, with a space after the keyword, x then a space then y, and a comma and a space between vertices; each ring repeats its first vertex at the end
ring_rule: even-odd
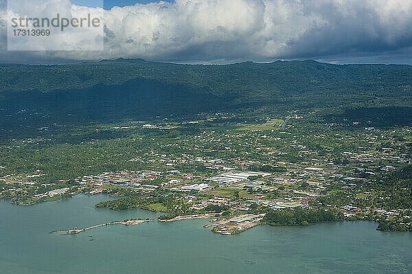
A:
POLYGON ((26 116, 33 113, 25 117, 31 120, 38 113, 56 121, 107 122, 262 107, 280 114, 326 108, 332 122, 347 113, 362 113, 365 119, 389 113, 385 121, 398 119, 396 111, 382 109, 388 107, 403 106, 402 113, 412 113, 412 67, 406 65, 310 60, 176 65, 119 59, 3 65, 0 71, 3 117, 25 111, 26 116))

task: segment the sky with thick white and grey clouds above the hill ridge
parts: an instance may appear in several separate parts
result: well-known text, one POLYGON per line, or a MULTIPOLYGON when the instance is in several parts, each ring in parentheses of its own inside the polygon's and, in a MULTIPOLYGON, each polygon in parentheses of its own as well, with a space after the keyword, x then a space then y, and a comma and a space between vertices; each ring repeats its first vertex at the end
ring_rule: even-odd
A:
MULTIPOLYGON (((49 2, 75 14, 85 3, 96 9, 93 1, 98 2, 41 0, 42 5, 30 9, 43 12, 49 2)), ((1 3, 4 6, 5 0, 1 3)), ((79 43, 71 52, 13 52, 7 50, 3 8, 0 62, 144 58, 222 64, 311 59, 412 65, 412 0, 106 0, 103 13, 103 50, 82 51, 79 43)), ((72 34, 64 35, 69 39, 72 34)), ((83 44, 95 40, 78 33, 77 38, 83 44)))

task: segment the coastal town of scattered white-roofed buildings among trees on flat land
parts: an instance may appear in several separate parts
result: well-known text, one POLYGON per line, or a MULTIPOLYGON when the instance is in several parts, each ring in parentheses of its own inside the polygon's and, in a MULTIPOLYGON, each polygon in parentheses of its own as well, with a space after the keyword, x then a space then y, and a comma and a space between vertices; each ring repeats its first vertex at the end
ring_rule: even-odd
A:
MULTIPOLYGON (((160 220, 205 214, 212 220, 205 227, 223 235, 261 223, 323 220, 376 220, 378 229, 412 229, 411 201, 400 198, 411 189, 382 184, 410 166, 411 128, 389 130, 348 120, 321 124, 298 113, 254 123, 234 121, 233 113, 216 113, 184 122, 83 128, 114 130, 120 136, 77 145, 79 151, 97 151, 73 155, 87 165, 80 172, 89 173, 75 176, 68 168, 62 175, 66 178, 52 182, 47 168, 6 174, 9 167, 1 166, 0 197, 34 205, 80 193, 108 194, 115 199, 97 207, 163 212, 160 220), (107 170, 110 166, 119 169, 107 170), (322 212, 328 216, 320 218, 322 212), (286 213, 319 218, 281 220, 286 213)), ((25 140, 10 150, 43 142, 47 140, 25 140)))

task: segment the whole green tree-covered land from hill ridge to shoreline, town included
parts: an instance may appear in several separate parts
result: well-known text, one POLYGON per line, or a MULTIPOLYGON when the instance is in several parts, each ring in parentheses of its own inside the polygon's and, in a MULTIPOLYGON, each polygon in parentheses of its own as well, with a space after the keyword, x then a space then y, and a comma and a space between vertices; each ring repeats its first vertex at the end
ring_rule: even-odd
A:
POLYGON ((103 192, 119 198, 97 207, 163 219, 267 213, 270 225, 345 218, 411 228, 410 66, 117 60, 0 69, 0 198, 12 203, 103 192), (209 181, 226 172, 271 175, 209 181), (182 188, 199 183, 209 188, 182 188))

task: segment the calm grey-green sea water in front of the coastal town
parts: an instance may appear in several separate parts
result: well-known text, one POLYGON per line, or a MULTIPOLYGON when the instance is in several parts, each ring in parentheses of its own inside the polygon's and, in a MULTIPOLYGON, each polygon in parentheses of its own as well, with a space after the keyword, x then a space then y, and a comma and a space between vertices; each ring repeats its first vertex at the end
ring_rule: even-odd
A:
POLYGON ((412 233, 376 231, 366 221, 262 225, 236 236, 211 233, 208 220, 49 233, 159 216, 94 207, 108 199, 78 195, 31 207, 0 200, 0 273, 412 273, 412 233))

